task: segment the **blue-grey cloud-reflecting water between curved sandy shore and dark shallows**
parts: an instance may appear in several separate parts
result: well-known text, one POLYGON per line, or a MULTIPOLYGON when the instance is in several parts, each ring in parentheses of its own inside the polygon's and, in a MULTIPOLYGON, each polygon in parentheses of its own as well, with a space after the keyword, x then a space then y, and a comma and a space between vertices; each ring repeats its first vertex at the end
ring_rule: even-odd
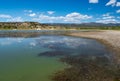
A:
POLYGON ((96 55, 108 53, 104 45, 90 39, 67 36, 41 36, 36 41, 37 45, 53 50, 96 55))

